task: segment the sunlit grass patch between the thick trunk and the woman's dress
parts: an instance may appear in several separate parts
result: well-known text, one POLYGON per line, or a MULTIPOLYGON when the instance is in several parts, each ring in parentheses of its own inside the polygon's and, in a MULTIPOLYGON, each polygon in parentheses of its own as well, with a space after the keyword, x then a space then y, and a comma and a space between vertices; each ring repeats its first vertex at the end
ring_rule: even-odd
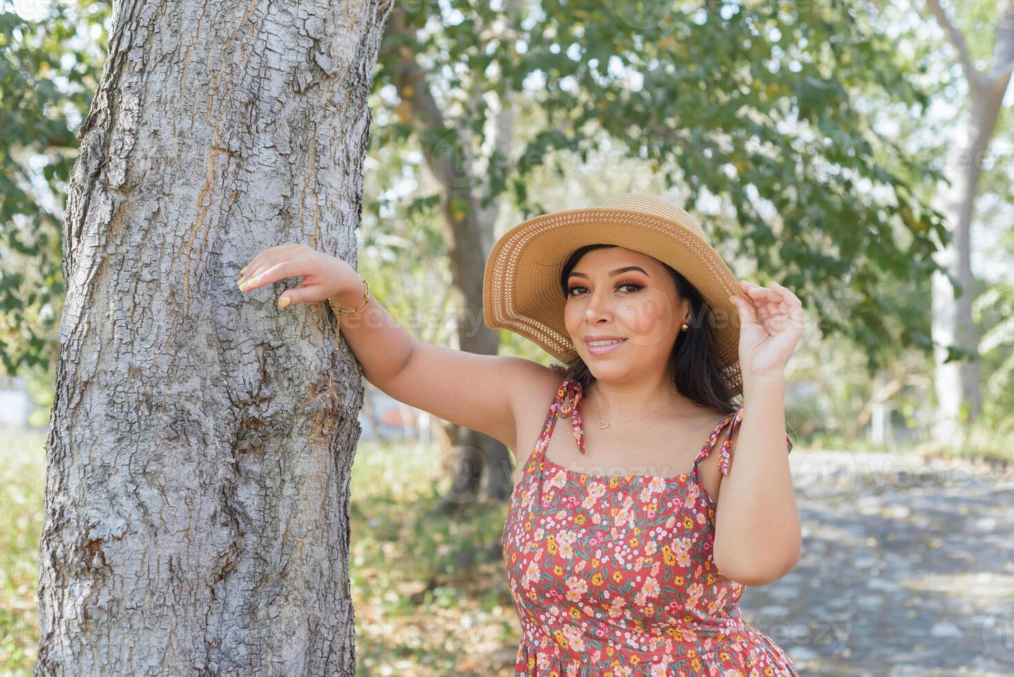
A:
POLYGON ((369 675, 513 675, 519 625, 500 537, 506 506, 435 513, 438 451, 359 445, 350 571, 356 653, 369 675))

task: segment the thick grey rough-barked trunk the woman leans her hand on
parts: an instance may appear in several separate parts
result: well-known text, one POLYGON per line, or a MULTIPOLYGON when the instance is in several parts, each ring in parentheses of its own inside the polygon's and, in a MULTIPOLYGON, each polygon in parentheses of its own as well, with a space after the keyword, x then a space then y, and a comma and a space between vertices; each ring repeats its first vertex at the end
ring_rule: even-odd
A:
POLYGON ((35 674, 353 675, 361 371, 327 304, 244 296, 303 242, 355 266, 390 6, 115 5, 79 132, 47 439, 35 674))

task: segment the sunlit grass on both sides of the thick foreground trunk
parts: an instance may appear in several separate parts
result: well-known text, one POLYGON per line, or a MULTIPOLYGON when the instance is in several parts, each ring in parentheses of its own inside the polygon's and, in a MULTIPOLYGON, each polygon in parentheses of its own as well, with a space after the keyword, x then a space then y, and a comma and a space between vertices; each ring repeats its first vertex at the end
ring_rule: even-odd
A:
MULTIPOLYGON (((0 434, 0 675, 30 675, 45 433, 0 434)), ((506 506, 436 514, 447 488, 438 457, 415 445, 357 450, 349 576, 360 674, 513 675, 520 628, 500 550, 506 506)))

